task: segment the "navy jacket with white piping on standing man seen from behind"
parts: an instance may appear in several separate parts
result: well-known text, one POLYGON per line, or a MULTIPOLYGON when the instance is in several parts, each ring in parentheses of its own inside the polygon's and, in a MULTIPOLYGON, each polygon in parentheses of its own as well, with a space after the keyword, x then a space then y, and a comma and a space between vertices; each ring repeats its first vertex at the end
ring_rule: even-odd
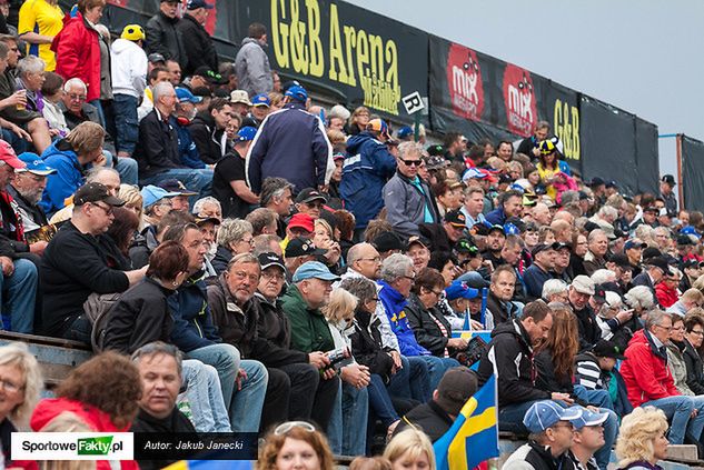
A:
POLYGON ((318 189, 329 180, 334 169, 333 146, 323 121, 298 102, 286 104, 267 116, 251 142, 246 160, 247 184, 261 191, 269 177, 285 178, 298 193, 304 188, 318 189), (331 174, 331 171, 330 171, 331 174))

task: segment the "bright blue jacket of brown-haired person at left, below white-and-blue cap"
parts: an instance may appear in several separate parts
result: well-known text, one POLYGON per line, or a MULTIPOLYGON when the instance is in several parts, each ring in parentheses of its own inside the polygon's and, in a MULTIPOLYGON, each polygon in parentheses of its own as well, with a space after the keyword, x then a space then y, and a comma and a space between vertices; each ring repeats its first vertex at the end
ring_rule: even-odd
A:
POLYGON ((66 206, 63 201, 73 196, 86 179, 83 168, 78 162, 78 156, 66 140, 53 142, 44 150, 41 158, 48 167, 57 170, 56 173, 47 177, 47 188, 39 201, 39 206, 50 218, 66 206))

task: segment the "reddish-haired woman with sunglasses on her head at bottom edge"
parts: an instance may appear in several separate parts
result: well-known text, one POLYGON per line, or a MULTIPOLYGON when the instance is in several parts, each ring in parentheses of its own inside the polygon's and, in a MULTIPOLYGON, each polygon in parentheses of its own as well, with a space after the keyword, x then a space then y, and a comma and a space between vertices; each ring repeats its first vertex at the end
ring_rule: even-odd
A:
POLYGON ((256 470, 333 470, 333 452, 325 436, 306 421, 288 421, 267 436, 256 470))

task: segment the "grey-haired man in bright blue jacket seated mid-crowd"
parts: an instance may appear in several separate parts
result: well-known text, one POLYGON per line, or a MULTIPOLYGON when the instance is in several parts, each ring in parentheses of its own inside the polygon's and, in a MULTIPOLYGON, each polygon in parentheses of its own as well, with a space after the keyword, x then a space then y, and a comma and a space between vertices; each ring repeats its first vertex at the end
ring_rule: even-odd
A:
POLYGON ((455 359, 437 358, 430 351, 418 344, 404 312, 407 299, 410 296, 416 273, 413 269, 413 260, 405 254, 391 254, 381 264, 381 280, 379 280, 379 301, 386 310, 386 316, 391 330, 398 339, 400 353, 406 357, 419 357, 428 366, 430 389, 435 389, 445 371, 459 366, 455 359))

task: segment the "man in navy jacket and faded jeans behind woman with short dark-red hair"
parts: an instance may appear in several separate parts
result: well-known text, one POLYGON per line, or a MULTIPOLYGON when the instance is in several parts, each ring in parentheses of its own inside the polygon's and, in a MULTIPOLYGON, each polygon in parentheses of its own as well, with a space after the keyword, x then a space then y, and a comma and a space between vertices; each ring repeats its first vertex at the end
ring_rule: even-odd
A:
POLYGON ((188 251, 188 279, 169 300, 173 316, 171 341, 189 359, 215 367, 234 432, 258 432, 268 373, 257 361, 241 361, 237 348, 222 343, 208 307, 204 261, 206 244, 195 223, 170 227, 163 241, 173 240, 188 251), (235 386, 238 386, 237 388, 235 386))

